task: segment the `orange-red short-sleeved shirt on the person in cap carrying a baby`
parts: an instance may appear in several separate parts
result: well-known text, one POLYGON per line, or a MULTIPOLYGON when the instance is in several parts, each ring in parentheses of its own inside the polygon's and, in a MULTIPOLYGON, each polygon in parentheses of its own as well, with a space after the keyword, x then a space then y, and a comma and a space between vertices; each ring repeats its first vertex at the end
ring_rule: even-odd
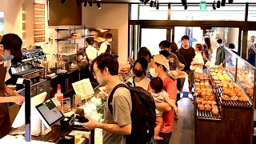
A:
MULTIPOLYGON (((176 100, 177 98, 177 86, 171 78, 166 77, 163 80, 163 90, 169 94, 170 99, 176 100)), ((170 133, 174 129, 174 109, 172 111, 164 111, 162 114, 163 124, 161 127, 162 133, 170 133)))

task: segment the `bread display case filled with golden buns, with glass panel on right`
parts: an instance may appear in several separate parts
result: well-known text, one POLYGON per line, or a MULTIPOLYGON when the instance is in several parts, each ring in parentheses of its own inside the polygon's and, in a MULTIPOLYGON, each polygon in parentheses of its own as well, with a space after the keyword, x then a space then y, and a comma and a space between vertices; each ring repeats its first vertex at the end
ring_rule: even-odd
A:
POLYGON ((230 50, 224 66, 194 74, 196 144, 253 142, 255 68, 230 50))

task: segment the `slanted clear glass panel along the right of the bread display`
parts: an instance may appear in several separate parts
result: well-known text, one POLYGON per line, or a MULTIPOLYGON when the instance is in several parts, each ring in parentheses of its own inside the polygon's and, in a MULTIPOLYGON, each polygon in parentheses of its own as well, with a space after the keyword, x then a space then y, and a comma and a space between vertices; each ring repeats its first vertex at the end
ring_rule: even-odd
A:
POLYGON ((232 74, 234 82, 237 82, 254 102, 256 68, 234 52, 226 50, 226 70, 232 74))

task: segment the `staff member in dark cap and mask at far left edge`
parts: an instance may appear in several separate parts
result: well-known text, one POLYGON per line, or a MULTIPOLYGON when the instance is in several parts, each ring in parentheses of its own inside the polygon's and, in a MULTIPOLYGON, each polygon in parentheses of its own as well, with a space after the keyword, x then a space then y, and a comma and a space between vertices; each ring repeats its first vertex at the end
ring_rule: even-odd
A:
POLYGON ((11 130, 7 102, 15 102, 18 105, 22 105, 25 98, 5 85, 6 69, 10 67, 7 66, 8 61, 20 62, 22 60, 22 39, 17 34, 5 34, 0 45, 3 46, 2 52, 0 51, 0 138, 3 138, 11 130), (6 94, 11 96, 6 97, 6 94))

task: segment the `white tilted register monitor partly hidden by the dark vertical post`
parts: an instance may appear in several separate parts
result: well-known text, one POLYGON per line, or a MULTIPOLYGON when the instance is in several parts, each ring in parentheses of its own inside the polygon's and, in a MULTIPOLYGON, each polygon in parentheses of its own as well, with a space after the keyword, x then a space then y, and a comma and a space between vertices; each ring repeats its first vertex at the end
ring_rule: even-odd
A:
MULTIPOLYGON (((31 134, 37 136, 41 133, 42 130, 42 122, 41 119, 38 117, 37 110, 35 106, 38 106, 40 103, 44 102, 46 99, 46 92, 42 94, 38 94, 31 98, 31 119, 30 119, 30 126, 31 126, 31 134)), ((21 109, 18 111, 16 118, 12 124, 13 128, 18 128, 25 125, 25 102, 23 102, 21 109)), ((25 132, 25 131, 24 131, 25 132)))

